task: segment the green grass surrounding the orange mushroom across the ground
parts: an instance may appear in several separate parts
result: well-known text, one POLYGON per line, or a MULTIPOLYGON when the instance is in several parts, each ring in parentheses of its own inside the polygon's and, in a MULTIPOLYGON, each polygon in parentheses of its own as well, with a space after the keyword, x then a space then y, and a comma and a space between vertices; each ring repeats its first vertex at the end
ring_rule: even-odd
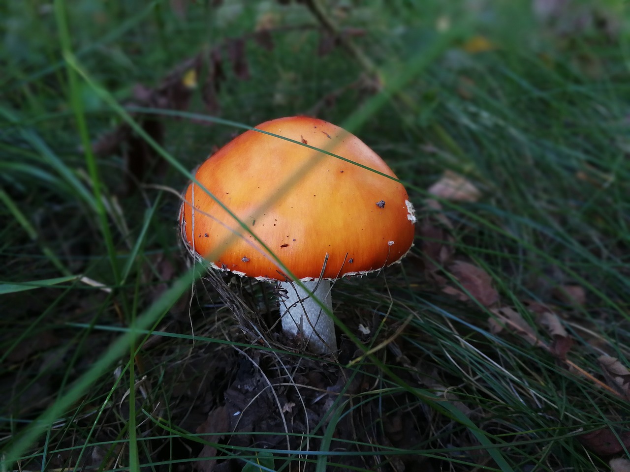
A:
MULTIPOLYGON (((319 13, 275 2, 0 7, 3 470, 176 470, 236 456, 243 470, 609 470, 610 458, 627 458, 622 3, 575 2, 544 17, 525 2, 324 4, 319 13), (263 26, 272 48, 251 36, 263 26), (323 31, 347 33, 335 46, 323 31), (248 38, 242 52, 236 38, 248 38), (184 87, 185 106, 138 103, 136 84, 154 89, 212 48, 219 59, 198 70, 196 89, 184 87), (204 89, 207 77, 217 86, 204 89), (213 106, 202 89, 214 90, 213 106), (452 223, 444 245, 490 274, 496 306, 527 328, 492 329, 496 311, 444 293, 418 237, 401 266, 335 285, 335 313, 368 354, 310 364, 271 334, 261 347, 253 334, 273 323, 272 289, 189 268, 176 195, 213 147, 299 113, 356 133, 418 208, 447 169, 478 186, 478 201, 442 201, 452 223), (137 136, 127 144, 146 148, 100 154, 98 138, 122 123, 137 136), (585 301, 571 303, 567 286, 585 301), (532 302, 549 305, 566 334, 550 332, 532 302), (621 370, 604 368, 604 354, 621 370), (301 366, 347 377, 329 415, 287 435, 290 447, 264 451, 263 427, 247 444, 243 432, 197 432, 254 357, 267 376, 286 371, 275 381, 289 385, 301 366), (355 434, 349 443, 344 431, 355 434), (357 466, 353 454, 369 459, 357 466)), ((276 399, 278 417, 299 419, 276 399)), ((295 412, 311 408, 297 403, 295 412)))

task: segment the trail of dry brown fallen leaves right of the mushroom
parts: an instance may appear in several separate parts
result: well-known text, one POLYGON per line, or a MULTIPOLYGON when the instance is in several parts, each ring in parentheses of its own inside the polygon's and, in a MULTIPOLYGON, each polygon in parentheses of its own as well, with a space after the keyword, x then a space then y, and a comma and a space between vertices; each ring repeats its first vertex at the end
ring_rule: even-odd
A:
MULTIPOLYGON (((428 193, 433 197, 464 203, 478 201, 481 196, 474 184, 452 171, 446 171, 444 176, 430 187, 428 193)), ((588 369, 571 361, 568 355, 575 347, 575 340, 566 330, 557 310, 529 300, 525 301, 520 310, 504 305, 500 294, 493 288, 490 275, 481 267, 464 261, 457 255, 451 236, 452 229, 453 225, 442 205, 432 198, 427 199, 425 217, 418 225, 416 233, 422 241, 425 273, 442 293, 458 301, 474 300, 486 307, 491 313, 488 318, 491 334, 515 335, 530 346, 549 352, 567 372, 587 379, 618 398, 630 400, 630 371, 619 359, 611 356, 600 356, 597 359, 600 374, 605 382, 588 369), (447 272, 449 277, 443 276, 440 271, 447 272), (524 311, 529 312, 529 320, 523 317, 524 311), (536 322, 542 333, 534 328, 531 321, 536 322), (545 339, 545 335, 551 338, 551 342, 545 339)), ((553 296, 570 309, 580 309, 587 303, 586 291, 579 284, 556 286, 553 296)), ((625 429, 604 427, 577 434, 577 439, 587 449, 600 456, 614 456, 630 449, 630 432, 625 429)), ((620 470, 626 466, 626 463, 615 464, 615 468, 620 470)))

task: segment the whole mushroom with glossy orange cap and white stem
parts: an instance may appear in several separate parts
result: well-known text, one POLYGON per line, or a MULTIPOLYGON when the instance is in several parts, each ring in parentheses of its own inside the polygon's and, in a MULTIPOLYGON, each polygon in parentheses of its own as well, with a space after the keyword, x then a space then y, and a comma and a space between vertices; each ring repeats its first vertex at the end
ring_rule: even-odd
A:
POLYGON ((399 262, 413 242, 403 184, 327 121, 266 121, 209 157, 195 179, 201 186, 189 184, 180 210, 190 253, 221 271, 278 281, 282 328, 311 352, 336 350, 322 308, 331 311, 330 281, 399 262))

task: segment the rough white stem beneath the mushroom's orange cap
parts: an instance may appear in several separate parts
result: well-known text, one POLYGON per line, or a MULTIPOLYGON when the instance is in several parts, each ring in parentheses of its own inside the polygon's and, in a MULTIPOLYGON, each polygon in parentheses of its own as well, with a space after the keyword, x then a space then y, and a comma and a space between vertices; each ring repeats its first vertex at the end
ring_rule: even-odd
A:
MULTIPOLYGON (((328 310, 332 310, 328 280, 302 283, 328 310)), ((297 283, 282 282, 280 288, 287 292, 286 297, 284 293, 280 296, 282 330, 306 340, 309 350, 316 354, 336 351, 335 322, 328 313, 297 283)))

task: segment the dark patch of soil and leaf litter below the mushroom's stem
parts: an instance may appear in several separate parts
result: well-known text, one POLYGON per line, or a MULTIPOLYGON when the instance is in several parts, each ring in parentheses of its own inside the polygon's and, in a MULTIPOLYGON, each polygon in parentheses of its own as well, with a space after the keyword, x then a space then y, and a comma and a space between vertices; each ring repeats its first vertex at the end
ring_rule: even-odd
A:
MULTIPOLYGON (((290 345, 289 340, 286 342, 290 345)), ((396 403, 409 402, 406 393, 374 396, 366 401, 365 394, 372 390, 377 372, 366 365, 358 369, 342 367, 361 355, 362 351, 357 351, 348 340, 341 344, 339 365, 296 358, 282 351, 250 348, 239 352, 235 363, 226 366, 232 374, 225 390, 212 402, 207 419, 197 427, 209 444, 198 453, 195 469, 226 472, 242 468, 243 459, 226 454, 231 447, 290 450, 297 456, 304 451, 303 457, 312 459, 307 451, 323 447, 324 431, 337 405, 345 405, 346 414, 336 420, 335 435, 328 447, 349 454, 331 456, 327 470, 374 468, 387 456, 385 451, 383 456, 352 452, 378 452, 379 444, 412 449, 422 436, 417 423, 422 416, 420 406, 415 415, 394 408, 396 403), (381 411, 390 413, 383 416, 381 411)), ((287 458, 285 454, 275 454, 277 464, 287 458)), ((415 470, 425 462, 414 454, 396 461, 401 471, 415 470)), ((304 467, 311 469, 306 464, 304 467)))

